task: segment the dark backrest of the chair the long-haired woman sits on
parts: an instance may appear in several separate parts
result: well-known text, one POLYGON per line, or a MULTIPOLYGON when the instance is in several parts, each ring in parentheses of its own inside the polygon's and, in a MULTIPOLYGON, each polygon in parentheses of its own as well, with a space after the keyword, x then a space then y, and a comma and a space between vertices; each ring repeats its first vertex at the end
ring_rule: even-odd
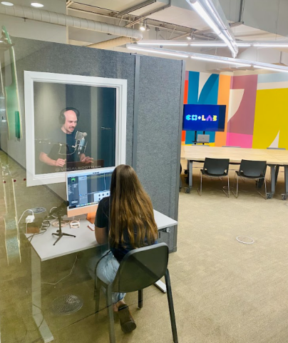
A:
POLYGON ((120 262, 113 292, 128 293, 149 287, 166 272, 169 248, 165 243, 133 249, 120 262))

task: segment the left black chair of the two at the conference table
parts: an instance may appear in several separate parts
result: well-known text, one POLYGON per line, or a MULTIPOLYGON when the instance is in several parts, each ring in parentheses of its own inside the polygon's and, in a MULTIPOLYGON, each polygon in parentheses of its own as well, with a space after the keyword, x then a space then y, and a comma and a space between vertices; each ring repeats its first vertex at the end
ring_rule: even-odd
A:
POLYGON ((202 177, 217 177, 218 179, 222 180, 222 177, 227 177, 228 180, 228 193, 225 192, 225 189, 223 187, 223 192, 226 194, 226 196, 230 197, 230 185, 229 185, 229 177, 228 177, 228 171, 229 171, 229 159, 210 159, 205 158, 203 169, 200 169, 200 191, 199 187, 197 189, 198 194, 201 197, 202 194, 202 177))

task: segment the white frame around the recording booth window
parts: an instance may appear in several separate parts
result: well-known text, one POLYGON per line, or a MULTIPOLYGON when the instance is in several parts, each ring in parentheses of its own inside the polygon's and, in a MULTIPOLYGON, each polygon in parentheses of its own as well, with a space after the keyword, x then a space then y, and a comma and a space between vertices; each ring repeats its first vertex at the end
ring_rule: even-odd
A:
MULTIPOLYGON (((77 84, 83 86, 109 87, 116 89, 115 166, 126 160, 127 80, 106 79, 96 76, 43 73, 24 71, 25 123, 26 123, 26 179, 27 186, 65 182, 65 172, 35 173, 35 128, 34 128, 34 82, 77 84)), ((75 171, 76 172, 76 171, 75 171)), ((83 172, 83 170, 79 170, 83 172)))

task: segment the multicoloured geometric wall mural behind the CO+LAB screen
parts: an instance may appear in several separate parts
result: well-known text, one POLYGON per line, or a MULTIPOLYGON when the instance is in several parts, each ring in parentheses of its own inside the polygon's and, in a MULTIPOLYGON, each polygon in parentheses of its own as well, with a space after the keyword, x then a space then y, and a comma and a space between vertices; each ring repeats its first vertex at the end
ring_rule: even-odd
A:
MULTIPOLYGON (((288 74, 186 71, 184 104, 226 105, 225 131, 206 132, 210 146, 288 149, 288 74)), ((183 131, 182 144, 191 144, 194 137, 195 131, 183 131)))

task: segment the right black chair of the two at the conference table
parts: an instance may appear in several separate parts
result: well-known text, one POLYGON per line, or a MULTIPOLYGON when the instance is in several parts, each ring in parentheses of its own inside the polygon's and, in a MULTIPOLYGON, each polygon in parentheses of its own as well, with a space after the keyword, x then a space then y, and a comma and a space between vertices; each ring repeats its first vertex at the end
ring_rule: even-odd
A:
POLYGON ((261 197, 267 199, 267 187, 266 187, 266 174, 267 163, 266 161, 249 161, 247 159, 242 159, 239 171, 235 172, 234 184, 233 189, 235 189, 235 179, 237 178, 237 186, 236 186, 236 194, 232 191, 235 197, 238 197, 238 184, 239 178, 242 179, 252 179, 257 180, 257 182, 264 182, 265 185, 265 197, 259 191, 257 191, 261 197))

